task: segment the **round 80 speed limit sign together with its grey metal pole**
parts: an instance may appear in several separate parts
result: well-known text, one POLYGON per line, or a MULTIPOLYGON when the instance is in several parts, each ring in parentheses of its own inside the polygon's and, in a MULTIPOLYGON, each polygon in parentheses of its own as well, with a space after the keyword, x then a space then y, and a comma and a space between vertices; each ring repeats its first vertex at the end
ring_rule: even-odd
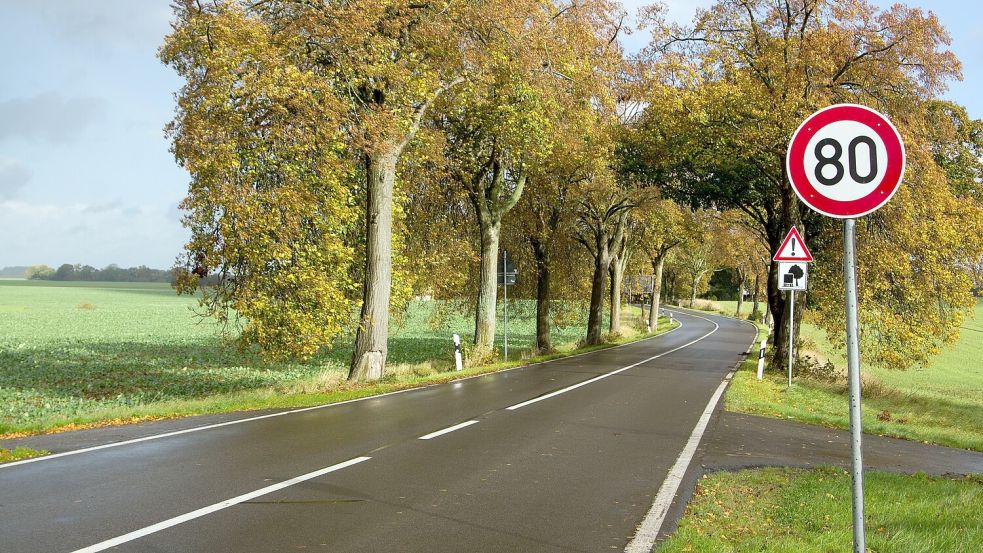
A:
POLYGON ((837 104, 810 115, 792 134, 785 156, 785 170, 792 189, 804 204, 822 215, 844 220, 843 287, 853 454, 853 551, 864 553, 856 223, 857 217, 880 209, 900 187, 905 171, 904 142, 894 125, 877 111, 856 104, 837 104))

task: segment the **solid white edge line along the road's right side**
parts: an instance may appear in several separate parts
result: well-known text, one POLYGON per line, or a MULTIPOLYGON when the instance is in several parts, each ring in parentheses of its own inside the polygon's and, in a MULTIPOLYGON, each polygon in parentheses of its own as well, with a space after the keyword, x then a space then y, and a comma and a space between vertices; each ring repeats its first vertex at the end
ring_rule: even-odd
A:
MULTIPOLYGON (((697 315, 692 316, 696 317, 697 315)), ((703 317, 699 318, 703 319, 703 317)), ((757 339, 757 334, 755 335, 755 339, 757 339)), ((751 344, 753 345, 754 342, 752 341, 751 344)), ((666 476, 666 479, 662 482, 662 486, 659 487, 659 493, 656 494, 655 500, 652 502, 652 507, 642 520, 642 524, 638 527, 635 537, 625 547, 625 553, 649 553, 652 551, 652 548, 655 546, 655 540, 659 537, 662 525, 666 521, 669 507, 672 506, 672 501, 679 491, 679 486, 683 482, 686 470, 689 468, 689 464, 693 461, 693 456, 696 454, 696 448, 699 447, 700 440, 703 439, 703 433, 706 432, 707 424, 710 423, 710 417, 713 415, 714 409, 717 408, 717 403, 720 402, 721 396, 724 395, 727 384, 734 378, 735 372, 736 369, 727 373, 727 376, 724 377, 724 380, 717 386, 717 390, 710 397, 710 401, 707 403, 706 409, 703 410, 700 420, 697 421, 696 427, 693 428, 693 433, 690 434, 686 446, 683 447, 683 451, 676 458, 676 463, 669 469, 669 475, 666 476)))

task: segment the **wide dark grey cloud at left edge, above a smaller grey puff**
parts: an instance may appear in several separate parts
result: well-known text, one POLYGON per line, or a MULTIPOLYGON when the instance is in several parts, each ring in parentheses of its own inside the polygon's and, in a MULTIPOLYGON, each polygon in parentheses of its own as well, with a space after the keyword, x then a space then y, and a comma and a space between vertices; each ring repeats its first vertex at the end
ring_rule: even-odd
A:
POLYGON ((103 116, 105 107, 100 98, 66 97, 58 92, 0 100, 0 141, 71 142, 103 116))

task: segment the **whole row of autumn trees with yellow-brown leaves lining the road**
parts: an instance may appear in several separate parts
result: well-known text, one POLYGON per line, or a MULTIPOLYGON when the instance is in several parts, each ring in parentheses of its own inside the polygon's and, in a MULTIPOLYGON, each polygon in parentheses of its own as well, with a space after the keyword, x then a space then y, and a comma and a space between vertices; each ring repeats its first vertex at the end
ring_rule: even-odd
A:
POLYGON ((938 100, 959 64, 935 17, 808 0, 662 15, 644 10, 652 43, 629 58, 608 0, 176 2, 160 57, 185 81, 168 127, 191 174, 179 291, 273 357, 353 330, 350 378, 376 379, 414 295, 473 310, 472 360, 492 352, 503 244, 532 269, 517 295, 543 351, 577 305, 586 343, 605 299, 618 332, 626 274, 656 276, 654 322, 663 288, 692 301, 729 267, 783 329, 768 252, 797 224, 818 258, 804 301, 838 329, 839 234, 783 159, 805 115, 849 101, 908 144, 902 192, 860 227, 866 351, 904 365, 954 339, 983 255, 960 239, 983 230, 983 139, 938 100))

